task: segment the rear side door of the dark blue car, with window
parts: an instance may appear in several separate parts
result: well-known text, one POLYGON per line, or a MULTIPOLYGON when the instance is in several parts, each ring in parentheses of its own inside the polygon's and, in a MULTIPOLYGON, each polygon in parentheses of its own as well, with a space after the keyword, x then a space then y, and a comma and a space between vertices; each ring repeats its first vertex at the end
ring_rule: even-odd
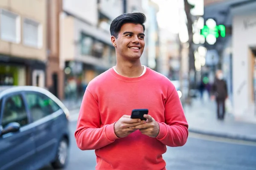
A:
POLYGON ((58 144, 53 128, 54 118, 49 98, 35 91, 27 91, 24 96, 32 116, 32 125, 35 126, 36 159, 47 163, 55 157, 54 150, 58 144))

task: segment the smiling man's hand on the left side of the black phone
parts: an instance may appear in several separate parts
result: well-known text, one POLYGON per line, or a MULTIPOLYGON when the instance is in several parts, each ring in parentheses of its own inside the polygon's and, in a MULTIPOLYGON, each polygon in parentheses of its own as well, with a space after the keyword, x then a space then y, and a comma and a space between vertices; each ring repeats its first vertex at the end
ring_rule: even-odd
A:
POLYGON ((145 121, 140 119, 131 119, 129 115, 123 115, 114 125, 114 131, 117 137, 123 138, 133 133, 137 129, 131 127, 145 124, 145 121))

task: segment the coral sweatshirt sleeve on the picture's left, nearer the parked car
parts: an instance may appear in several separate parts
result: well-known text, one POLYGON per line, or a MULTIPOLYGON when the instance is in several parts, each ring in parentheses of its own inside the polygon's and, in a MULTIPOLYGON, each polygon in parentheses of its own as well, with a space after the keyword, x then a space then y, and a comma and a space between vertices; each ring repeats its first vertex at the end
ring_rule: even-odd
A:
POLYGON ((114 132, 114 123, 101 127, 98 102, 88 90, 85 91, 81 103, 75 138, 81 150, 99 149, 118 139, 114 132))

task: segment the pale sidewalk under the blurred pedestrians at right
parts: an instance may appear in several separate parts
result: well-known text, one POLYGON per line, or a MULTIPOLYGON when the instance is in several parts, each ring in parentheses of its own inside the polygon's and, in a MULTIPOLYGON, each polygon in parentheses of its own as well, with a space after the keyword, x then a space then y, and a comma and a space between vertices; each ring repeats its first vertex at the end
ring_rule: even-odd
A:
POLYGON ((194 99, 184 111, 190 132, 256 142, 256 124, 238 121, 230 113, 218 120, 215 101, 194 99))

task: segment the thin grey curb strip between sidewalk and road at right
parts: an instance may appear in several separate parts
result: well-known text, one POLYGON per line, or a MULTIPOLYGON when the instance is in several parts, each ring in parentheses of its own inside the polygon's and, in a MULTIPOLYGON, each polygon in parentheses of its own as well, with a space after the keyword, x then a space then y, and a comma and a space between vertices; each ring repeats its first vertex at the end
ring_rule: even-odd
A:
POLYGON ((227 133, 216 133, 216 132, 209 132, 209 131, 203 131, 203 130, 197 130, 197 129, 189 129, 189 132, 198 133, 198 134, 202 134, 202 135, 208 135, 208 136, 227 138, 227 139, 236 139, 236 140, 242 140, 242 141, 248 141, 248 142, 256 142, 256 137, 249 137, 249 136, 243 136, 243 135, 231 135, 231 134, 227 134, 227 133))

